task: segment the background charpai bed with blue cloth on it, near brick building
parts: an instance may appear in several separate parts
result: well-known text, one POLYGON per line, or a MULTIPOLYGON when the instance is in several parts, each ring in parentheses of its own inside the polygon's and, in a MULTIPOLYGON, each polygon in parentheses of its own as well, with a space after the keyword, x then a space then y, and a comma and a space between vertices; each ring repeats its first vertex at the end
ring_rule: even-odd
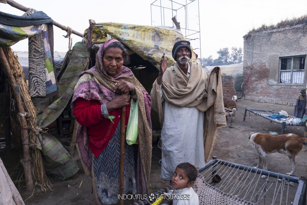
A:
MULTIPOLYGON (((305 124, 299 124, 299 123, 292 123, 289 121, 285 121, 285 120, 277 120, 277 119, 273 119, 271 117, 269 117, 269 115, 277 115, 279 114, 279 112, 276 112, 274 110, 261 110, 261 109, 253 109, 253 108, 245 108, 244 111, 244 117, 243 117, 243 121, 245 121, 245 117, 246 117, 246 112, 249 111, 250 113, 254 113, 255 115, 259 115, 267 120, 270 120, 271 122, 276 122, 278 124, 282 125, 282 132, 281 134, 285 134, 285 128, 286 126, 305 126, 305 124)), ((290 118, 297 118, 294 116, 289 115, 290 118)), ((305 133, 304 136, 307 134, 306 132, 306 127, 305 127, 305 133)))

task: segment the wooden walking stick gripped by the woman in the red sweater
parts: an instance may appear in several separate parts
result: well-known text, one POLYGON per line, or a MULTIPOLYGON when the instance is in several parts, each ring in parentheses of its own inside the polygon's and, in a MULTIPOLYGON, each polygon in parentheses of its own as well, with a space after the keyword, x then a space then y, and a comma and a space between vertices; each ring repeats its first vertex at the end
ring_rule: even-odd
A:
MULTIPOLYGON (((120 119, 120 162, 119 162, 119 194, 124 194, 124 159, 125 159, 125 124, 126 124, 126 106, 122 107, 122 116, 120 119)), ((124 200, 120 199, 120 205, 124 200)))

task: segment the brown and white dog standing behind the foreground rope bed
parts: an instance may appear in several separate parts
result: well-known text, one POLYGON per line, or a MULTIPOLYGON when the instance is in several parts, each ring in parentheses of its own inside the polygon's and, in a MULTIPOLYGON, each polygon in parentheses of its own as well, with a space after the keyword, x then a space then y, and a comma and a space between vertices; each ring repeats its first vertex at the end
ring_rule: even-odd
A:
MULTIPOLYGON (((295 156, 301 152, 303 145, 307 144, 306 139, 296 134, 284 134, 284 135, 270 135, 265 133, 255 133, 250 137, 250 142, 253 148, 256 149, 259 154, 258 164, 256 168, 262 164, 262 169, 267 171, 267 154, 278 152, 289 157, 292 170, 287 175, 293 175, 296 164, 295 156)), ((266 175, 261 176, 262 179, 266 178, 266 175)))

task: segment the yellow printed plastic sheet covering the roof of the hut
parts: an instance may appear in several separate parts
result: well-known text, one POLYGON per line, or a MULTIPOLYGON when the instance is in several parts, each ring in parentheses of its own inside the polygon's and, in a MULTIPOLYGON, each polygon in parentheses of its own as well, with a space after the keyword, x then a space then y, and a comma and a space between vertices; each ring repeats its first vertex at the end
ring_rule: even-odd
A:
MULTIPOLYGON (((167 57, 168 67, 175 63, 172 57, 173 45, 177 41, 186 40, 180 30, 166 26, 140 26, 123 23, 95 23, 92 31, 92 44, 107 41, 107 34, 121 41, 144 60, 149 61, 159 69, 163 53, 167 57)), ((84 32, 84 41, 87 41, 87 30, 84 32)), ((192 45, 191 45, 192 46, 192 45)), ((192 52, 192 61, 196 62, 192 52)))

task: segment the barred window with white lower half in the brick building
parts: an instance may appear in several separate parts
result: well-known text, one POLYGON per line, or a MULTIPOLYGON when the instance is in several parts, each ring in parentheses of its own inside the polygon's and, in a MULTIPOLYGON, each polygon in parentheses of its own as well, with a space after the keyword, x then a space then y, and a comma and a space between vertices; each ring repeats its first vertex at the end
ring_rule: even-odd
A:
POLYGON ((284 84, 304 84, 306 56, 279 58, 280 80, 284 84))

